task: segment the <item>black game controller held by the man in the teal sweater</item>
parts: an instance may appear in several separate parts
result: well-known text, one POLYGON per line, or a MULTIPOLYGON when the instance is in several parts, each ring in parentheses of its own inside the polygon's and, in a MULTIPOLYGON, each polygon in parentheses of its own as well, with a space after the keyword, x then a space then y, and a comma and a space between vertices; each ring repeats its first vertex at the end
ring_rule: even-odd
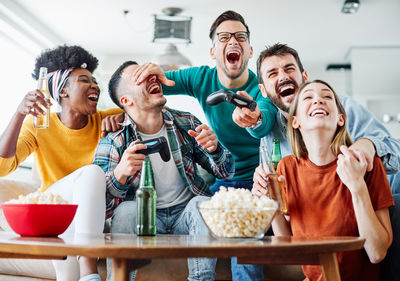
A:
POLYGON ((225 89, 212 93, 206 99, 206 103, 208 105, 216 105, 223 101, 229 102, 240 108, 247 107, 251 111, 254 111, 257 106, 257 103, 254 100, 248 99, 225 89))

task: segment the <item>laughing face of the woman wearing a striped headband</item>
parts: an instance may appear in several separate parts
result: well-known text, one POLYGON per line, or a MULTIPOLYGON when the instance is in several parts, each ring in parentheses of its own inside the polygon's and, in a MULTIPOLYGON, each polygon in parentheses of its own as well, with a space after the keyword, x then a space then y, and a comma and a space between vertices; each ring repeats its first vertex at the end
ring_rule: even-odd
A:
POLYGON ((61 106, 83 115, 96 113, 100 89, 89 70, 74 69, 61 90, 61 106))

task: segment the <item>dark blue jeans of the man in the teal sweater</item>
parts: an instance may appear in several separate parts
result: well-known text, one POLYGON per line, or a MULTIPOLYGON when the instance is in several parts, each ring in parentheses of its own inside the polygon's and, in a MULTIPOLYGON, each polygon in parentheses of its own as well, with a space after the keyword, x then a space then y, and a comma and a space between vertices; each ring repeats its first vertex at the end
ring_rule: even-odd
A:
MULTIPOLYGON (((253 180, 241 180, 241 181, 216 180, 215 183, 212 186, 210 186, 211 193, 214 194, 215 192, 217 192, 221 186, 236 187, 236 188, 242 187, 251 190, 253 187, 253 180)), ((267 232, 267 234, 271 233, 267 232)), ((237 258, 233 257, 231 259, 231 270, 232 270, 233 281, 264 280, 263 266, 261 264, 238 264, 237 258)))

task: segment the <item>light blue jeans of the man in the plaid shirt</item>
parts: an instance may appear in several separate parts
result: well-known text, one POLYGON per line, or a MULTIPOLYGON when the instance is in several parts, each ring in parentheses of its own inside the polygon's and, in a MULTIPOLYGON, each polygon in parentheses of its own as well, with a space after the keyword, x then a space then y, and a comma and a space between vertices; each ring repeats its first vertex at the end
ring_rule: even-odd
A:
MULTIPOLYGON (((179 204, 156 211, 156 228, 159 234, 209 235, 207 226, 196 207, 196 202, 209 200, 206 196, 195 196, 189 203, 179 204)), ((136 201, 124 201, 114 211, 111 233, 136 233, 136 201)), ((188 259, 189 281, 214 280, 217 259, 188 259)), ((110 280, 111 263, 107 261, 107 280, 110 280)), ((130 280, 134 280, 132 272, 130 280)))

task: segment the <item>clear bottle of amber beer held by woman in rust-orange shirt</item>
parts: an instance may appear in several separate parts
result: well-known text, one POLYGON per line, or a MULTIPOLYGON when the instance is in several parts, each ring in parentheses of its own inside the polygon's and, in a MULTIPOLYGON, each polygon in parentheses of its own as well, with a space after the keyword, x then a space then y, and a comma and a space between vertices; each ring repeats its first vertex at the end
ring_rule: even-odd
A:
POLYGON ((267 174, 265 180, 268 182, 268 197, 278 203, 278 208, 282 214, 286 213, 287 207, 282 183, 278 181, 278 175, 269 157, 268 148, 264 145, 260 146, 260 165, 267 174))

